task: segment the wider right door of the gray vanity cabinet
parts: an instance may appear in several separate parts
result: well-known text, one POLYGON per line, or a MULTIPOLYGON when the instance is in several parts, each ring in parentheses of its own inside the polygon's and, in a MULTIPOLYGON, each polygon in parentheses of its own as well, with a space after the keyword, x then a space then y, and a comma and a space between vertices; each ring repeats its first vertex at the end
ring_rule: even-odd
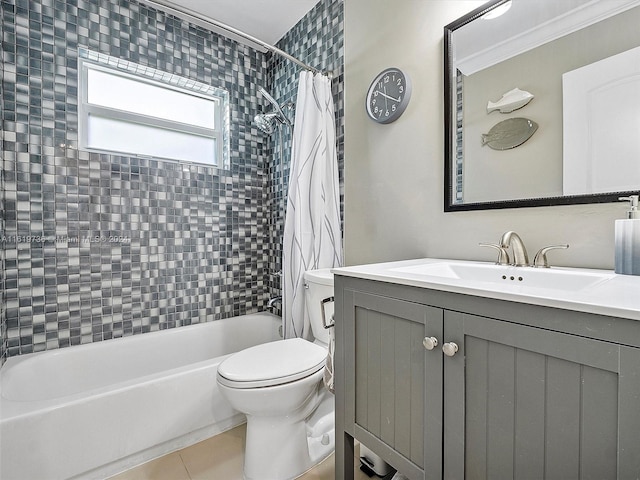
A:
POLYGON ((445 312, 444 478, 640 478, 640 349, 445 312))

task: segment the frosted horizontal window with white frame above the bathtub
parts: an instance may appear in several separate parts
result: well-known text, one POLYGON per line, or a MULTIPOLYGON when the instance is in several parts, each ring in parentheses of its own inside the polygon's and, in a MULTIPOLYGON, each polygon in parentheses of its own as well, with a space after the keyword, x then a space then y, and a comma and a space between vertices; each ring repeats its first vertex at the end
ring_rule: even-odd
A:
POLYGON ((226 90, 85 49, 79 71, 81 149, 227 166, 226 90))

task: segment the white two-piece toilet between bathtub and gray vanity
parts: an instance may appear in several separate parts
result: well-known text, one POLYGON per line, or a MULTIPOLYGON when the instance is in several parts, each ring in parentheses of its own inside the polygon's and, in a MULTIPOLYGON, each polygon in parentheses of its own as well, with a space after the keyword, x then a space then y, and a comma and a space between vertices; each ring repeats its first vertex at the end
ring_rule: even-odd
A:
POLYGON ((246 480, 297 478, 335 448, 334 398, 323 384, 333 274, 305 272, 305 303, 315 340, 291 338, 231 355, 218 367, 218 386, 231 406, 247 416, 246 480))

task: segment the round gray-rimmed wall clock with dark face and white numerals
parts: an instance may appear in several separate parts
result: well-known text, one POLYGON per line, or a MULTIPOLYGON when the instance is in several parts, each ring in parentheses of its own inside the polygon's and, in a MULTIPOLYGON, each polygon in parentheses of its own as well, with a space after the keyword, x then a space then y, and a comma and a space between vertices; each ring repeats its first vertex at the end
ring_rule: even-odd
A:
POLYGON ((399 68, 387 68, 371 82, 365 108, 378 123, 397 120, 409 104, 411 81, 399 68))

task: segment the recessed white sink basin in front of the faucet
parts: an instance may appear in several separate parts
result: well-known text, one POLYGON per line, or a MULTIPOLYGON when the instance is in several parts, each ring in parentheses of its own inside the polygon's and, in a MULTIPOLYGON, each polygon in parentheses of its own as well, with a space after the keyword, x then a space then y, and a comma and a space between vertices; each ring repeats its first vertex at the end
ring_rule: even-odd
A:
POLYGON ((463 261, 438 261, 392 268, 390 271, 442 280, 483 282, 552 290, 579 291, 605 282, 614 273, 577 268, 511 267, 463 261))

